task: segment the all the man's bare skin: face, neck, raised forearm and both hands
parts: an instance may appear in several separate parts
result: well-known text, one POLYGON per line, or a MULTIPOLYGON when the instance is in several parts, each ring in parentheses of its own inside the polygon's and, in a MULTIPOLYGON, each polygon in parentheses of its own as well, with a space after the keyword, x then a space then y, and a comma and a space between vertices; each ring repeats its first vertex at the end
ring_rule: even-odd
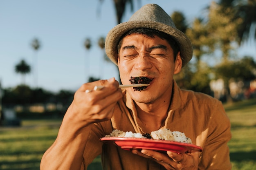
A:
MULTIPOLYGON (((138 117, 144 130, 158 130, 167 116, 172 91, 173 75, 180 72, 182 60, 178 53, 173 60, 171 46, 160 38, 129 35, 119 54, 119 69, 123 84, 130 84, 131 76, 147 76, 153 82, 145 91, 127 88, 135 100, 138 117)), ((54 144, 43 155, 41 170, 80 170, 84 148, 93 123, 108 121, 117 102, 123 98, 115 78, 83 84, 75 93, 67 109, 54 144), (94 86, 104 86, 100 91, 85 93, 94 86), (72 127, 72 128, 70 128, 72 127)), ((132 150, 141 157, 153 159, 167 170, 197 170, 199 152, 177 154, 153 150, 132 150)))

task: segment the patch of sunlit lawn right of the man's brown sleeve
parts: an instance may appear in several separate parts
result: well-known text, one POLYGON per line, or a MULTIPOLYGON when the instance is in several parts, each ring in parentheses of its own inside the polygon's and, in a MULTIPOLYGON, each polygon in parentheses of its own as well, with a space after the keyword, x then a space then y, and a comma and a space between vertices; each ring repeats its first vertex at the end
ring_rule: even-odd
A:
POLYGON ((256 99, 224 105, 231 121, 232 170, 256 170, 256 99))

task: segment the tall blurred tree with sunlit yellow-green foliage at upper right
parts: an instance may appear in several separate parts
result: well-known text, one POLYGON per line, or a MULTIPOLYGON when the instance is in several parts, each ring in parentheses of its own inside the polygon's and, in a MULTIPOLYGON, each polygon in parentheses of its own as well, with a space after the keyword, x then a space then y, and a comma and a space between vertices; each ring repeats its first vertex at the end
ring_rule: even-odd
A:
POLYGON ((238 8, 232 6, 235 2, 242 3, 242 0, 220 0, 219 4, 212 2, 209 9, 209 31, 211 31, 212 37, 216 39, 217 48, 222 51, 222 62, 216 66, 216 75, 221 75, 220 77, 224 80, 225 98, 227 102, 231 100, 229 77, 231 75, 234 77, 234 71, 236 70, 230 67, 237 64, 229 61, 231 59, 230 52, 240 44, 242 39, 239 35, 241 34, 241 32, 239 33, 239 29, 242 24, 245 24, 243 21, 244 16, 239 16, 238 8), (220 73, 220 71, 223 71, 223 73, 220 73))

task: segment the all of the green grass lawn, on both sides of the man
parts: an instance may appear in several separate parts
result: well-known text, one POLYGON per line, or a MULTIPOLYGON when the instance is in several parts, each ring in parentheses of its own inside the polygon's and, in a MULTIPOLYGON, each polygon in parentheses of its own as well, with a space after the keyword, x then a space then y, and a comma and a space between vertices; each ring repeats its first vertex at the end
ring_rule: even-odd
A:
MULTIPOLYGON (((232 170, 256 170, 256 99, 224 105, 231 121, 232 170)), ((22 120, 0 127, 0 170, 39 170, 40 159, 56 139, 61 119, 22 120)), ((88 168, 101 170, 100 158, 88 168)))

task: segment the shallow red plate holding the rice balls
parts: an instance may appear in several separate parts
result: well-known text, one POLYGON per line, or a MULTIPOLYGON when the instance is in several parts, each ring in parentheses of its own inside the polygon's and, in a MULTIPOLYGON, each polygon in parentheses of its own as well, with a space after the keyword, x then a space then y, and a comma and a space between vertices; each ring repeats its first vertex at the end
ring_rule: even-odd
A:
POLYGON ((176 141, 154 140, 144 138, 129 137, 103 137, 100 139, 104 143, 114 143, 124 150, 149 149, 157 151, 202 152, 202 147, 176 141))

